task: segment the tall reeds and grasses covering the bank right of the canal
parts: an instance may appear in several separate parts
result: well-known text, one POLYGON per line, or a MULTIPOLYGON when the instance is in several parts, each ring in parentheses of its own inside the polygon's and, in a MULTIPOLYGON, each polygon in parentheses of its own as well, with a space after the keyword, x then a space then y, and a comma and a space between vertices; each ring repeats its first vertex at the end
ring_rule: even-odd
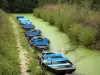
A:
POLYGON ((69 4, 44 5, 34 15, 55 25, 89 48, 100 49, 100 12, 69 4))

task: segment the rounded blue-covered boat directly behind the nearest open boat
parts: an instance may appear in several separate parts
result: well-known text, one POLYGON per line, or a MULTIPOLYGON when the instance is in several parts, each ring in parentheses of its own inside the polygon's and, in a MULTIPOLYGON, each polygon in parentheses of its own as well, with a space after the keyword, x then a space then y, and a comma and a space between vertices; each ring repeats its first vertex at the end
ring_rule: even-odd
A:
POLYGON ((45 50, 49 48, 50 41, 43 36, 35 36, 30 40, 30 45, 37 49, 45 50))

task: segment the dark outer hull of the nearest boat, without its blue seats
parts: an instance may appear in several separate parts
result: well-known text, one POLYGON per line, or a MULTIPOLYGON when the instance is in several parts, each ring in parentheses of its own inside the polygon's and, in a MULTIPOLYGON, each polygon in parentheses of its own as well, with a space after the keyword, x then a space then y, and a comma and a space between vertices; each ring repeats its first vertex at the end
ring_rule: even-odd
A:
MULTIPOLYGON (((42 55, 46 55, 46 54, 55 54, 55 53, 52 53, 52 52, 47 52, 47 51, 44 51, 42 52, 42 55)), ((51 57, 52 58, 52 57, 51 57)), ((54 58, 54 57, 53 57, 54 58)), ((64 57, 60 57, 60 58, 64 58, 64 57)), ((44 67, 46 68, 48 71, 52 71, 54 73, 56 73, 57 75, 65 75, 65 74, 71 74, 73 73, 75 70, 76 70, 76 67, 75 65, 72 64, 71 61, 67 60, 68 63, 70 63, 72 66, 68 66, 68 67, 59 67, 59 68, 52 68, 52 67, 49 67, 47 64, 45 64, 43 61, 45 60, 43 57, 39 57, 40 59, 40 65, 41 67, 44 67)), ((46 59, 47 60, 47 59, 46 59)), ((64 61, 63 61, 64 62, 64 61)), ((60 62, 61 63, 61 62, 60 62)), ((65 62, 64 62, 65 63, 65 62)))

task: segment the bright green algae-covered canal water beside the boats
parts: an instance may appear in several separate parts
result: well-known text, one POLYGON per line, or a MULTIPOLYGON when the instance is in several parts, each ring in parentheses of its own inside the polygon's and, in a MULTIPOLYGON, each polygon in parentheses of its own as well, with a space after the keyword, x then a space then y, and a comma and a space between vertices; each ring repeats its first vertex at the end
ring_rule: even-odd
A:
POLYGON ((74 52, 65 54, 65 51, 71 47, 70 39, 65 33, 60 32, 57 27, 35 17, 33 14, 13 15, 22 15, 28 18, 36 26, 36 29, 40 29, 43 36, 51 41, 50 51, 63 53, 65 57, 68 57, 75 64, 77 69, 75 74, 100 75, 100 52, 89 50, 80 45, 74 52))

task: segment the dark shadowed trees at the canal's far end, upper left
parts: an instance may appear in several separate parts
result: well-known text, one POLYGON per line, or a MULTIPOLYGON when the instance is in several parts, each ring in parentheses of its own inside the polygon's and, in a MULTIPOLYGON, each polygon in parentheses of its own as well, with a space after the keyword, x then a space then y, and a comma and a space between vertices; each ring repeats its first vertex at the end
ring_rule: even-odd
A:
POLYGON ((6 12, 32 12, 37 0, 0 0, 0 8, 6 12))

